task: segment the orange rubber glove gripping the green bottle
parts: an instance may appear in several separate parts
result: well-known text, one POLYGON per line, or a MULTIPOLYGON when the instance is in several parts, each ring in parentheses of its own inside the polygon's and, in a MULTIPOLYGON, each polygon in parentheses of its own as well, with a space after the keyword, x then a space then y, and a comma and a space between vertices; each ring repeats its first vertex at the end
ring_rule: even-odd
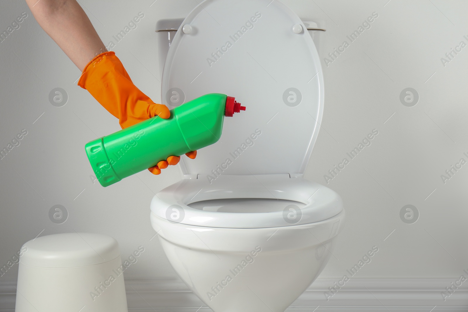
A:
MULTIPOLYGON (((116 116, 122 129, 156 115, 164 119, 170 117, 165 105, 154 103, 133 84, 113 51, 93 58, 83 70, 78 86, 88 90, 97 102, 116 116)), ((195 159, 197 151, 186 155, 195 159)), ((167 160, 161 160, 148 170, 153 174, 160 174, 161 169, 176 165, 179 160, 180 156, 169 156, 167 160)))

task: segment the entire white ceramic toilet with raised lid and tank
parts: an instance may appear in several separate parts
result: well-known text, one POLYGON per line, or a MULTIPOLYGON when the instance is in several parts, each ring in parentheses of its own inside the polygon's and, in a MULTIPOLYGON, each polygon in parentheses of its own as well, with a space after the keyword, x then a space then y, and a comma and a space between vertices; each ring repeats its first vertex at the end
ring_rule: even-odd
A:
POLYGON ((303 20, 278 0, 205 0, 156 27, 163 104, 223 93, 247 108, 151 202, 169 262, 214 312, 283 312, 334 257, 343 202, 303 178, 324 99, 309 34, 324 29, 303 20))

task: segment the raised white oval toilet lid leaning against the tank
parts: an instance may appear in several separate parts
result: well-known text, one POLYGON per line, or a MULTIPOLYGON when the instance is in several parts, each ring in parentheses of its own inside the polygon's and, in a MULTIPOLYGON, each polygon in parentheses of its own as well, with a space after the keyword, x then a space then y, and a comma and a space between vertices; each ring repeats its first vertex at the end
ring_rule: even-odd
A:
POLYGON ((183 157, 183 174, 209 179, 218 166, 229 175, 304 172, 322 120, 323 77, 289 7, 205 0, 185 18, 164 65, 162 103, 172 109, 208 93, 234 96, 247 110, 225 117, 220 140, 197 159, 183 157))

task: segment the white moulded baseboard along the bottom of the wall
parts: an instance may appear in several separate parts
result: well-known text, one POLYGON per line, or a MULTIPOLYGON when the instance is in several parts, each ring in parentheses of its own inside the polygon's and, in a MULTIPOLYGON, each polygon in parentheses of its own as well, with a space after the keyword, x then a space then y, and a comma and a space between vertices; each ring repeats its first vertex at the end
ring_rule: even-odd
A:
MULTIPOLYGON (((468 311, 468 287, 464 284, 446 301, 440 294, 456 278, 354 278, 327 301, 324 291, 337 280, 318 278, 286 311, 468 311)), ((180 280, 127 280, 125 287, 130 312, 212 311, 180 280)), ((15 293, 15 283, 0 282, 0 312, 15 311, 15 293)))

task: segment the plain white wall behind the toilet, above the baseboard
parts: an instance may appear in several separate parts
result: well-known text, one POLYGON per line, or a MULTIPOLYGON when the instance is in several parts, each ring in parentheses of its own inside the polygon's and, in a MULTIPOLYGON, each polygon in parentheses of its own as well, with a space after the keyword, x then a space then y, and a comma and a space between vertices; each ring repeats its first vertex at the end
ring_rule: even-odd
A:
MULTIPOLYGON (((145 14, 114 51, 134 83, 158 102, 156 21, 184 17, 197 1, 157 0, 150 7, 152 2, 80 3, 106 45, 139 12, 145 14)), ((468 154, 468 47, 445 67, 440 58, 460 41, 468 44, 463 38, 468 35, 468 3, 284 2, 301 17, 326 21, 322 58, 349 42, 346 36, 373 12, 379 15, 335 61, 322 63, 323 129, 306 178, 326 184, 324 174, 346 152, 373 129, 379 134, 329 181, 343 197, 347 224, 337 238, 336 257, 321 277, 343 276, 374 245, 379 252, 359 277, 460 276, 468 261, 468 165, 446 184, 440 175, 460 158, 468 160, 463 155, 468 154), (420 96, 414 107, 399 100, 406 87, 420 96), (419 210, 414 224, 400 219, 406 204, 419 210)), ((146 248, 125 278, 176 278, 157 239, 149 240, 154 236, 149 203, 155 192, 181 178, 179 169, 165 169, 160 176, 145 171, 108 188, 93 184, 84 144, 119 130, 117 120, 76 86, 80 71, 40 29, 24 1, 2 1, 0 7, 2 31, 28 13, 21 28, 0 43, 0 147, 22 129, 28 131, 21 145, 0 160, 0 265, 39 233, 98 232, 119 241, 123 258, 139 245, 146 248), (55 87, 68 93, 63 107, 49 102, 55 87), (48 216, 56 204, 69 212, 61 225, 48 216)), ((14 281, 16 275, 17 266, 0 282, 14 281)))

